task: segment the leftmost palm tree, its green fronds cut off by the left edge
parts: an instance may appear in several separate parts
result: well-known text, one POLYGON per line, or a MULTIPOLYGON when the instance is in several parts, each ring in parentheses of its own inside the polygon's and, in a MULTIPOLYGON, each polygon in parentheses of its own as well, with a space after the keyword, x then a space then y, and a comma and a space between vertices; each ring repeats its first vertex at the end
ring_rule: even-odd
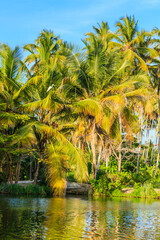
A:
MULTIPOLYGON (((21 114, 18 107, 22 105, 22 96, 14 98, 19 91, 24 78, 24 71, 21 61, 21 50, 16 47, 12 50, 8 45, 3 44, 0 47, 0 127, 5 136, 5 145, 3 145, 4 158, 8 164, 8 181, 12 183, 12 158, 16 151, 10 145, 11 139, 14 138, 16 129, 22 126, 28 116, 21 114)), ((16 167, 16 183, 19 179, 20 164, 22 159, 21 144, 18 147, 18 162, 16 167)))

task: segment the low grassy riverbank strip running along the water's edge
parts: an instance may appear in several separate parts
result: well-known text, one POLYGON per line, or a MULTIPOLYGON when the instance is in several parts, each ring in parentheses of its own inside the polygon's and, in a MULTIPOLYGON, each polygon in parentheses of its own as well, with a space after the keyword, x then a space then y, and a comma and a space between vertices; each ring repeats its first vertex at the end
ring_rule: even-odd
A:
MULTIPOLYGON (((0 194, 16 196, 53 196, 53 191, 48 186, 34 185, 30 181, 20 181, 19 184, 0 184, 0 194)), ((126 198, 151 198, 160 199, 160 189, 153 188, 152 184, 135 185, 122 189, 114 189, 107 193, 93 192, 90 184, 68 182, 67 195, 91 195, 93 197, 126 197, 126 198)))

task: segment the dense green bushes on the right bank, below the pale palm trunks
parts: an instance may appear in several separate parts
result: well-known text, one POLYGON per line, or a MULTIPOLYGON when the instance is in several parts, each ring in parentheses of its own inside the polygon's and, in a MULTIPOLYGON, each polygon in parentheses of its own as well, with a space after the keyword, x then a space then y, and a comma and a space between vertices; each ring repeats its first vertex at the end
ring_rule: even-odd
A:
POLYGON ((156 198, 154 188, 160 188, 159 172, 155 176, 153 167, 140 168, 140 172, 117 173, 114 165, 107 171, 104 165, 97 173, 96 180, 90 180, 94 196, 156 198), (132 194, 124 194, 122 188, 133 188, 132 194))

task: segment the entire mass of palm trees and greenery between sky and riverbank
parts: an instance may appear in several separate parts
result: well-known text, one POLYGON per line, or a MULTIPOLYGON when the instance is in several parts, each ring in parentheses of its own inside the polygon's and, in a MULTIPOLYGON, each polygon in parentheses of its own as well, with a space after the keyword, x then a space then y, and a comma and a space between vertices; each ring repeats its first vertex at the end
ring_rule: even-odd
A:
POLYGON ((1 44, 0 182, 39 179, 56 195, 70 177, 99 193, 158 184, 159 36, 126 16, 115 32, 94 26, 82 50, 48 30, 1 44))

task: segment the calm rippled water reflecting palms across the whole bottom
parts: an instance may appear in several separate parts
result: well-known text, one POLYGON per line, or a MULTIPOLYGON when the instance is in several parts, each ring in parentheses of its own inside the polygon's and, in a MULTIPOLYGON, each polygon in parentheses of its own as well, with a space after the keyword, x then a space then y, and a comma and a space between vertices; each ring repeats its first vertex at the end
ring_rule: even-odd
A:
POLYGON ((160 239, 160 201, 0 196, 0 239, 160 239))

